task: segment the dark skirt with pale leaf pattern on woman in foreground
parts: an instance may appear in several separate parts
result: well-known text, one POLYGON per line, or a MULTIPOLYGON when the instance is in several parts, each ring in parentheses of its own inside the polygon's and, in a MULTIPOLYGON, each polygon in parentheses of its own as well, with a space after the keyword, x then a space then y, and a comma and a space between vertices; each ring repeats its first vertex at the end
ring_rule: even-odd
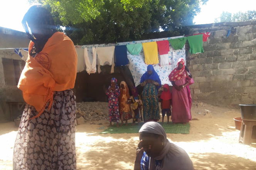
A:
POLYGON ((50 110, 26 105, 13 150, 13 170, 76 170, 76 102, 72 90, 54 92, 50 110))

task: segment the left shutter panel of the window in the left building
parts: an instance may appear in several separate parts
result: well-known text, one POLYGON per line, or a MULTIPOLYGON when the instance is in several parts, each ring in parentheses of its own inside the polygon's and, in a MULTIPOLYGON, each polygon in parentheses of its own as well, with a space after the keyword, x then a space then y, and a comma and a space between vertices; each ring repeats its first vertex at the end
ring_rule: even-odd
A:
POLYGON ((3 73, 5 75, 5 84, 16 85, 13 60, 9 58, 2 58, 2 64, 3 73))

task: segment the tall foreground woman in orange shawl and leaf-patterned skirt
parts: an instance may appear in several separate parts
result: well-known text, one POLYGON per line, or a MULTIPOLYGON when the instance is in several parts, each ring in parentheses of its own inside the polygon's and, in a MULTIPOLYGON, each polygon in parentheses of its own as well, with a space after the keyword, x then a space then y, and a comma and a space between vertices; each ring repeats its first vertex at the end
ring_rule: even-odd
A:
POLYGON ((13 169, 76 169, 74 43, 57 32, 51 13, 32 6, 22 24, 31 40, 20 76, 25 106, 13 151, 13 169))

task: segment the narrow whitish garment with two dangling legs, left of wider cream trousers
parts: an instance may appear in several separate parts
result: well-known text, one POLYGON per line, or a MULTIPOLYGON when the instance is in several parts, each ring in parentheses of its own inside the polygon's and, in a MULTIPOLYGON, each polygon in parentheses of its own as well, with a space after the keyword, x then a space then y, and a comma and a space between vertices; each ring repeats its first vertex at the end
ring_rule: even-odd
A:
POLYGON ((84 48, 84 61, 86 65, 86 72, 90 75, 91 73, 96 73, 96 48, 91 48, 91 58, 89 57, 88 48, 84 48), (90 60, 91 59, 91 60, 90 60))

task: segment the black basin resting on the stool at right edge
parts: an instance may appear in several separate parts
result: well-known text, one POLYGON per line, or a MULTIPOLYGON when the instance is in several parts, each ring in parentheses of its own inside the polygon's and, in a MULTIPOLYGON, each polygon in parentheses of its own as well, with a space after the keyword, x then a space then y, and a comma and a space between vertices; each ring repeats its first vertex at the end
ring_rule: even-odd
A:
POLYGON ((256 121, 256 105, 239 105, 243 120, 256 121))

